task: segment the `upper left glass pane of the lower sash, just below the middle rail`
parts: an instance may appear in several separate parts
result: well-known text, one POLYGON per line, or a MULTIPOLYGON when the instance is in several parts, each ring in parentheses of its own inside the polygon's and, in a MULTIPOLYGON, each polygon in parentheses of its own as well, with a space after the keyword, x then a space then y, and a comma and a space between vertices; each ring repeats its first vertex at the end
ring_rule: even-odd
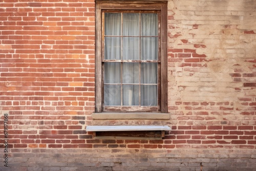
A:
POLYGON ((121 83, 121 63, 104 63, 104 83, 121 83))

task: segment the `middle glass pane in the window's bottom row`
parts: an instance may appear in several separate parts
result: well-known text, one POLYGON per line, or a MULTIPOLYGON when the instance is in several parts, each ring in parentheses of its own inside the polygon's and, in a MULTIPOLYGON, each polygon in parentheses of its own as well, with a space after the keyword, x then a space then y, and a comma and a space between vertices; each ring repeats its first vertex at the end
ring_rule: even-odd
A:
POLYGON ((139 86, 123 86, 123 105, 139 105, 139 86))

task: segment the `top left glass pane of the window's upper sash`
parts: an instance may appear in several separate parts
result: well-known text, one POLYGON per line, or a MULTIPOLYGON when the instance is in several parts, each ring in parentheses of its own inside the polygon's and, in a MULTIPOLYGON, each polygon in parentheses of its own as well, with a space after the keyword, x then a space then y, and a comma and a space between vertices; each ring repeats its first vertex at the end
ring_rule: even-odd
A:
POLYGON ((105 13, 105 35, 121 35, 121 13, 105 13))

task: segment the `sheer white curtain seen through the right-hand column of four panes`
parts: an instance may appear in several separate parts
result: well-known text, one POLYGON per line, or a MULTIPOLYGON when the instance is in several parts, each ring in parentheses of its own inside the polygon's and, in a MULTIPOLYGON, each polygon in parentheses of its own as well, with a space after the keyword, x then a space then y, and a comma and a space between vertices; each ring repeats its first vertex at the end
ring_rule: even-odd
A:
MULTIPOLYGON (((141 28, 141 60, 158 60, 157 14, 141 14, 141 28)), ((141 64, 141 105, 157 105, 157 70, 157 63, 141 64)))

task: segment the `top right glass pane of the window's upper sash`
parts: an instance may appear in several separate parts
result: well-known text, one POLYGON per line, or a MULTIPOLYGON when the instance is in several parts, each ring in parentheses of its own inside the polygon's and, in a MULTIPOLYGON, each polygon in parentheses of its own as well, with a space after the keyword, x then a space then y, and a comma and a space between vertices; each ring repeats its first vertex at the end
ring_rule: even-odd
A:
POLYGON ((157 36, 158 35, 158 16, 157 14, 141 14, 141 35, 157 36))

